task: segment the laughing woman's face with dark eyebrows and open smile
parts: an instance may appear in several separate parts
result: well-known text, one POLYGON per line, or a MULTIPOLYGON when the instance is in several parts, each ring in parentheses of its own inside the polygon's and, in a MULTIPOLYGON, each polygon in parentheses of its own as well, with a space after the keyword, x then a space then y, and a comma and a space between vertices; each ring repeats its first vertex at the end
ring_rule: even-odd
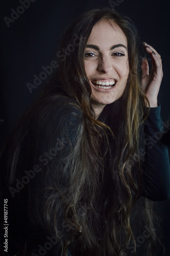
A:
POLYGON ((101 111, 123 95, 129 75, 127 38, 110 22, 112 26, 107 20, 94 25, 85 49, 85 72, 92 89, 92 105, 101 111))

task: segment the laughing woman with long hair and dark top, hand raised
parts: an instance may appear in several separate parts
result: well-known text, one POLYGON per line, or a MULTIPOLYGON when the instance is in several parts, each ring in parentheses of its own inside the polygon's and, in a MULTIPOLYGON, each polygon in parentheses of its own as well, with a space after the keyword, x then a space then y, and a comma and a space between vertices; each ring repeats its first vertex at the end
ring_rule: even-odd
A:
POLYGON ((140 74, 137 46, 130 19, 110 9, 66 30, 54 82, 2 153, 11 253, 134 255, 139 210, 142 255, 152 255, 151 204, 170 195, 167 148, 152 140, 163 73, 144 43, 152 70, 143 59, 140 74))

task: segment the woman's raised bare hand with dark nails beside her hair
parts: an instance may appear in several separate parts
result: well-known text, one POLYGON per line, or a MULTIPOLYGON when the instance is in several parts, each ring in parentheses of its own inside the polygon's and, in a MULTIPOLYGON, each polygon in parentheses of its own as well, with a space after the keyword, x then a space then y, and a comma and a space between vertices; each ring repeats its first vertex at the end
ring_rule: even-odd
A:
POLYGON ((158 106, 157 97, 163 77, 162 60, 159 53, 157 53, 157 51, 152 46, 145 42, 143 42, 143 46, 152 57, 152 69, 151 73, 149 74, 148 61, 147 59, 143 59, 141 63, 141 86, 149 99, 151 108, 156 108, 158 106))

